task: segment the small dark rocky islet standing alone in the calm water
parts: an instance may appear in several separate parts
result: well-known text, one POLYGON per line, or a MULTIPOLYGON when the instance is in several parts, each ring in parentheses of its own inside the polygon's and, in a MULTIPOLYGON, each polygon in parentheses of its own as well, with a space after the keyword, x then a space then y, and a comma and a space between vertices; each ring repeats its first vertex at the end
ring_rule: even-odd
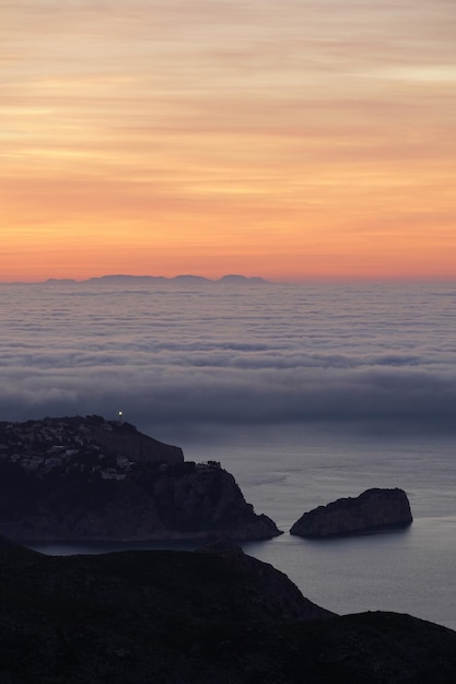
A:
POLYGON ((412 515, 404 490, 366 490, 356 498, 340 498, 305 512, 290 534, 326 538, 407 527, 412 515))

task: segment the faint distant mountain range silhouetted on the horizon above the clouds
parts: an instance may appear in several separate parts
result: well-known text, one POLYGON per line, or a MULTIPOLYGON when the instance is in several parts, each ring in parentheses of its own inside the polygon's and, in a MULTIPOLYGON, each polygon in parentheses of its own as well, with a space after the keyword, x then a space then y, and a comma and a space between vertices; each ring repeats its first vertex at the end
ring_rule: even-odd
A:
POLYGON ((223 275, 217 280, 211 280, 209 278, 203 278, 202 275, 175 275, 174 278, 165 278, 164 275, 128 275, 128 274, 113 274, 113 275, 101 275, 100 278, 89 278, 83 281, 75 281, 72 279, 55 279, 50 278, 45 283, 106 283, 106 284, 151 284, 151 283, 178 283, 183 285, 195 285, 195 284, 209 284, 209 283, 222 283, 222 284, 267 284, 270 281, 264 280, 262 278, 248 278, 246 275, 236 275, 229 274, 223 275))

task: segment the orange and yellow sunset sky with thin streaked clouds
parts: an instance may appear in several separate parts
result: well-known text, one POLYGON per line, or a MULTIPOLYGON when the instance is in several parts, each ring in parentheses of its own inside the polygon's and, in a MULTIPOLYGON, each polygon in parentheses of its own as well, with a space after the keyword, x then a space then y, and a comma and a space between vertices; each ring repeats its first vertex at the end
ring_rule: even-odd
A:
POLYGON ((456 278, 454 0, 0 0, 0 281, 456 278))

